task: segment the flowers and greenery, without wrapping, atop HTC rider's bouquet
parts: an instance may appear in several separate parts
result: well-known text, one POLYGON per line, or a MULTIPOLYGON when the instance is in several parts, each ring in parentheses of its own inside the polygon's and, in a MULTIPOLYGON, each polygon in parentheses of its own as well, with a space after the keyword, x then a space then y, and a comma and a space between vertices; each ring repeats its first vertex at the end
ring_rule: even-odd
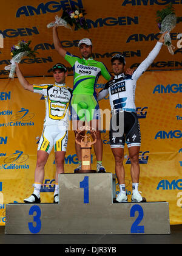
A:
POLYGON ((27 41, 22 40, 22 41, 19 41, 18 44, 13 45, 11 48, 12 57, 15 57, 20 52, 27 51, 27 52, 29 52, 29 54, 27 54, 27 56, 35 59, 36 53, 38 53, 38 52, 32 51, 32 49, 29 47, 30 43, 31 43, 31 41, 27 42, 27 41))

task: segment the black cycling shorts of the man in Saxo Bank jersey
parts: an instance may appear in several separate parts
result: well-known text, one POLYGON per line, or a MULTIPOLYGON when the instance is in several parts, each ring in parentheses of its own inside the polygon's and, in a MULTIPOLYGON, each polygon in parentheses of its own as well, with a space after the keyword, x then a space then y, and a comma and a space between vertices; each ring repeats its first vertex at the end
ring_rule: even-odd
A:
POLYGON ((140 123, 135 112, 113 110, 110 120, 110 148, 141 145, 140 123))

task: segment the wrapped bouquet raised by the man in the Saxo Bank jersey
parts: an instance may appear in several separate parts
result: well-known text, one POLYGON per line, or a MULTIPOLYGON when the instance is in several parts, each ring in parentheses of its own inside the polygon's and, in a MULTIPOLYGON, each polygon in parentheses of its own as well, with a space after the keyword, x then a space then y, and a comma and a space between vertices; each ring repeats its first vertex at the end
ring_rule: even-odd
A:
POLYGON ((169 32, 174 29, 177 24, 177 16, 175 15, 175 9, 172 4, 169 4, 163 10, 157 11, 157 23, 158 28, 161 30, 161 34, 168 31, 164 36, 164 44, 169 49, 170 54, 174 54, 173 49, 175 48, 171 43, 171 38, 169 32), (173 49, 172 49, 173 48, 173 49))

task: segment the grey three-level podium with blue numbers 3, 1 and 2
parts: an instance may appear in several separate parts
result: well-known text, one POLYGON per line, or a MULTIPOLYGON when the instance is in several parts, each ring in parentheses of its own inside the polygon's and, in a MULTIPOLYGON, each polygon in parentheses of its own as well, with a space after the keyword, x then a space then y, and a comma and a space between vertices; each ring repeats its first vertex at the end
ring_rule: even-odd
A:
POLYGON ((106 174, 59 174, 59 204, 7 204, 7 234, 169 234, 167 202, 113 203, 106 174))

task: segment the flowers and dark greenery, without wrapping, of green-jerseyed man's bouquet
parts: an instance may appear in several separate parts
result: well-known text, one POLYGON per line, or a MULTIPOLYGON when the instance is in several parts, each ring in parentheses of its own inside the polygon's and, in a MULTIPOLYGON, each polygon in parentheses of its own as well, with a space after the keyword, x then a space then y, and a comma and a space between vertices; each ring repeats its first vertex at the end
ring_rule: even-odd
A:
POLYGON ((75 25, 75 30, 88 29, 87 21, 84 18, 86 15, 83 9, 66 9, 63 11, 61 18, 67 22, 70 26, 75 25))

